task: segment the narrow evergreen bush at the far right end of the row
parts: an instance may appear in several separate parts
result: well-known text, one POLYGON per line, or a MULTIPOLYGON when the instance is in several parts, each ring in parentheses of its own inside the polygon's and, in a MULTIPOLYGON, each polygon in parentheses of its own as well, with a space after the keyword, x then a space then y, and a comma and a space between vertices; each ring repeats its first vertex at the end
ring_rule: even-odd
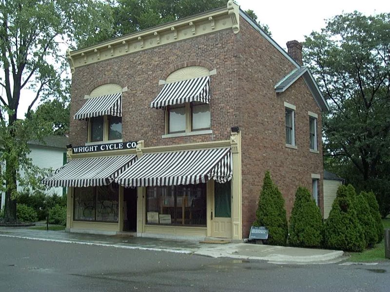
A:
POLYGON ((363 195, 359 194, 355 199, 357 219, 363 228, 366 247, 372 247, 378 241, 376 235, 375 220, 371 216, 370 207, 363 195))

